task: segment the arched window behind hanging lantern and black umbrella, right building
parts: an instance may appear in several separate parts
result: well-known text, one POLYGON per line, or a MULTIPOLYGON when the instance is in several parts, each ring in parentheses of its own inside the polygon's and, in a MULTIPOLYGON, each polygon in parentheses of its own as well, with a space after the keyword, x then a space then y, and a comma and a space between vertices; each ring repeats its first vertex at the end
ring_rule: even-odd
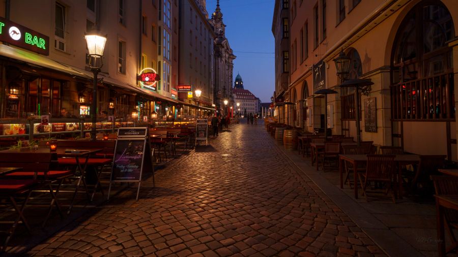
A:
MULTIPOLYGON (((347 52, 347 56, 350 58, 350 70, 348 79, 357 79, 362 75, 362 65, 359 53, 355 48, 350 48, 347 52)), ((356 137, 355 121, 355 88, 346 87, 341 89, 341 124, 342 124, 342 135, 347 137, 356 137), (353 131, 350 131, 353 130, 353 131)), ((361 103, 359 103, 361 110, 361 103)), ((361 116, 360 120, 361 120, 361 116)))

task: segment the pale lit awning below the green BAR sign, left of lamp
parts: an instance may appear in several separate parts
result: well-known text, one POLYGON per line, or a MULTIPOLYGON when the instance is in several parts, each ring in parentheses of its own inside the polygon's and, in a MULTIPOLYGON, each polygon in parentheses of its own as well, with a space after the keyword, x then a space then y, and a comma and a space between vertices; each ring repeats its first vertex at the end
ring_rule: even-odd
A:
MULTIPOLYGON (((87 75, 80 73, 74 69, 71 69, 65 65, 62 65, 57 61, 51 60, 47 57, 44 57, 36 53, 27 52, 22 49, 14 48, 11 46, 0 44, 0 55, 20 60, 23 62, 31 63, 33 65, 40 66, 43 68, 48 68, 55 71, 71 74, 73 76, 88 78, 87 75)), ((92 78, 92 76, 90 76, 89 78, 92 78)))

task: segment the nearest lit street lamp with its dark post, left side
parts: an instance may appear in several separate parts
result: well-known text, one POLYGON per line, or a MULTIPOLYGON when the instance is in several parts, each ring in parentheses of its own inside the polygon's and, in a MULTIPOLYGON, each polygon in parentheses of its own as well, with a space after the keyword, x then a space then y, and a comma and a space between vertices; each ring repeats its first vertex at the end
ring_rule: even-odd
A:
POLYGON ((94 86, 93 86, 93 97, 92 97, 92 140, 96 140, 96 123, 97 123, 97 75, 100 72, 100 68, 103 66, 102 55, 103 49, 105 48, 106 37, 100 36, 95 31, 91 34, 84 36, 88 45, 89 56, 89 67, 94 74, 94 86))

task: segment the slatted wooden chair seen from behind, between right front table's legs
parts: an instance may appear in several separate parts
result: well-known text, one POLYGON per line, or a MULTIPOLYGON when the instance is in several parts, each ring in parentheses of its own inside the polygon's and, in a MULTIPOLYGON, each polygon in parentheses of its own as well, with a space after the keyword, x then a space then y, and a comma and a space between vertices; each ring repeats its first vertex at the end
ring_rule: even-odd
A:
POLYGON ((393 185, 393 174, 396 171, 394 163, 395 155, 388 154, 367 154, 367 166, 365 173, 358 173, 359 182, 361 183, 362 194, 367 201, 367 187, 370 182, 384 183, 386 186, 385 195, 391 191, 393 203, 396 203, 393 185))

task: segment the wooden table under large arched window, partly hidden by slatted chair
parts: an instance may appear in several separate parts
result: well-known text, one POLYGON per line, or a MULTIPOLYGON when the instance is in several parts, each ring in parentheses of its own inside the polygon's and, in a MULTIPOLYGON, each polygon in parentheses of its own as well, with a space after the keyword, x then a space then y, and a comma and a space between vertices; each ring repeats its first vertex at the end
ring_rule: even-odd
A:
MULTIPOLYGON (((339 155, 339 177, 340 177, 340 188, 344 188, 344 163, 345 161, 350 162, 353 165, 353 181, 354 181, 354 193, 355 198, 358 199, 358 186, 357 186, 357 168, 358 165, 365 165, 367 163, 367 155, 365 154, 340 154, 339 155)), ((403 178, 402 178, 402 169, 400 166, 408 164, 417 164, 420 162, 420 155, 418 154, 399 154, 394 157, 394 162, 398 164, 398 189, 399 189, 399 199, 403 199, 403 178)))

